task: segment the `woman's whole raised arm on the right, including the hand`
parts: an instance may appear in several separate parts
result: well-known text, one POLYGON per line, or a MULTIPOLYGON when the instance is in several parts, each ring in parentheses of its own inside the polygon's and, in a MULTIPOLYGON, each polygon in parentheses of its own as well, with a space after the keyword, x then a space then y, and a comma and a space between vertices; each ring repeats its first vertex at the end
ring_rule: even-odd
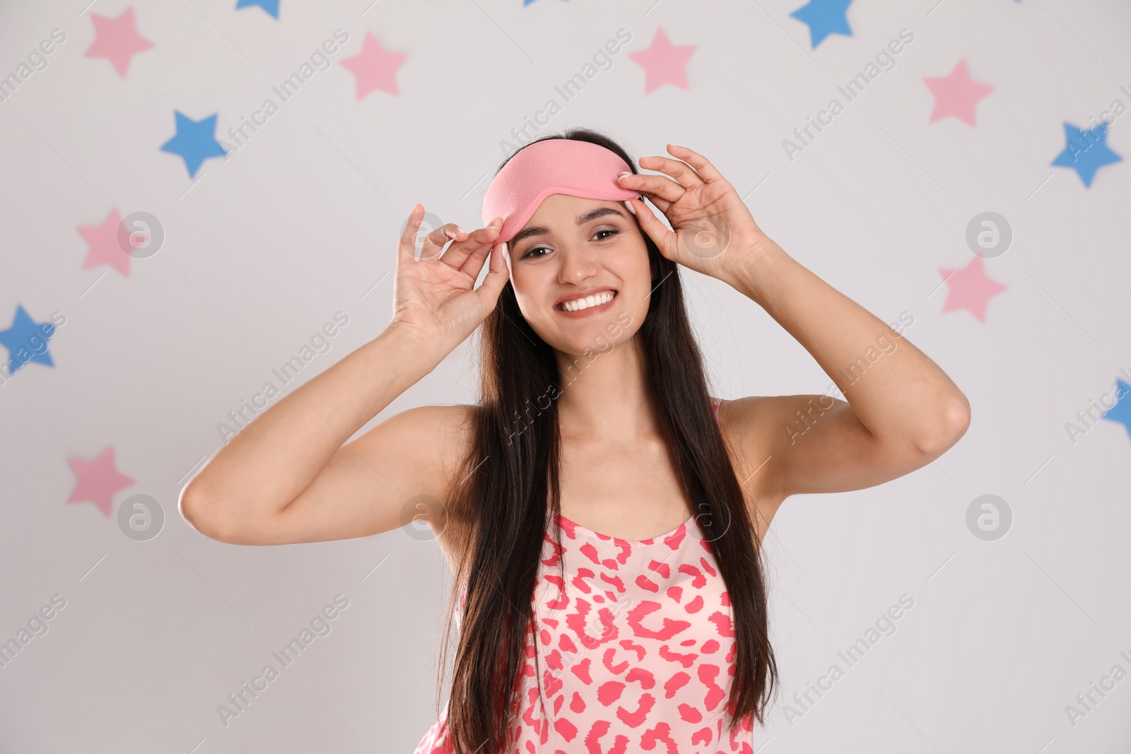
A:
POLYGON ((665 175, 619 179, 646 194, 673 229, 631 199, 640 227, 668 259, 761 305, 847 399, 761 396, 719 407, 743 457, 740 479, 763 526, 789 495, 871 487, 930 463, 958 442, 970 405, 946 372, 786 254, 710 161, 687 147, 670 144, 667 150, 676 159, 639 161, 665 175))

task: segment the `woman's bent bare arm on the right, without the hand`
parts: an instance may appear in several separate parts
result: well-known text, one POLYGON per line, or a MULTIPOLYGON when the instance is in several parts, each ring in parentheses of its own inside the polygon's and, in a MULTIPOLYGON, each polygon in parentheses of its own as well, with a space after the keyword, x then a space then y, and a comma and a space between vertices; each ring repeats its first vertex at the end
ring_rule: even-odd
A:
POLYGON ((770 510, 795 494, 863 489, 921 468, 966 432, 970 406, 943 370, 863 306, 763 239, 736 272, 846 400, 760 396, 725 411, 758 463, 770 510))

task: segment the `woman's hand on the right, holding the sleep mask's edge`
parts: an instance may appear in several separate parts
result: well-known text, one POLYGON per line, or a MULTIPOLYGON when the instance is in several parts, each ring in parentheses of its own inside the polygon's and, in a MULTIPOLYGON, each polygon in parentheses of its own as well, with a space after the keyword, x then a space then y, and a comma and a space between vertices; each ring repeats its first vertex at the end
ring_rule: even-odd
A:
POLYGON ((664 213, 674 232, 639 199, 628 202, 659 253, 734 285, 742 262, 775 244, 754 223, 734 187, 706 157, 673 144, 667 145, 667 150, 679 159, 641 157, 639 163, 671 179, 630 174, 620 177, 620 185, 646 196, 664 213))

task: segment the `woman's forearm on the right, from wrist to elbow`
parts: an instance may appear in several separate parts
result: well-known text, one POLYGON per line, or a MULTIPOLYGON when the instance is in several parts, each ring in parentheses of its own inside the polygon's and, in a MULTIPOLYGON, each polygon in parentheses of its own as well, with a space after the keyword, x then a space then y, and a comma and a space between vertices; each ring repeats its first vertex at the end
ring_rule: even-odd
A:
POLYGON ((728 277, 812 354, 874 436, 929 447, 965 428, 969 402, 938 364, 772 241, 737 257, 728 277))

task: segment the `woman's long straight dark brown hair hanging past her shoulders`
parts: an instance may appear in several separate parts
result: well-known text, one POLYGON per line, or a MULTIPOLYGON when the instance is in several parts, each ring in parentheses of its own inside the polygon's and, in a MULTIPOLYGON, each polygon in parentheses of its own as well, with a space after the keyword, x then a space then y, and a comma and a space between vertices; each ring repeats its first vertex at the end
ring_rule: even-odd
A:
MULTIPOLYGON (((571 129, 544 138, 598 144, 638 172, 628 153, 599 131, 571 129)), ((647 398, 731 599, 736 648, 727 707, 733 731, 751 717, 765 723, 777 685, 760 548, 710 408, 679 266, 642 235, 655 289, 636 337, 647 363, 647 398)), ((451 539, 463 552, 455 558, 437 711, 452 609, 464 589, 447 709, 449 736, 461 754, 502 754, 512 744, 511 722, 521 701, 517 690, 525 634, 534 625, 532 597, 545 527, 551 514, 556 522, 561 510, 554 399, 560 382, 568 384, 576 376, 572 370, 569 375, 559 372, 553 349, 523 318, 509 280, 483 322, 477 355, 480 401, 470 414, 468 453, 455 476, 459 482, 448 496, 448 520, 459 529, 451 539)))

